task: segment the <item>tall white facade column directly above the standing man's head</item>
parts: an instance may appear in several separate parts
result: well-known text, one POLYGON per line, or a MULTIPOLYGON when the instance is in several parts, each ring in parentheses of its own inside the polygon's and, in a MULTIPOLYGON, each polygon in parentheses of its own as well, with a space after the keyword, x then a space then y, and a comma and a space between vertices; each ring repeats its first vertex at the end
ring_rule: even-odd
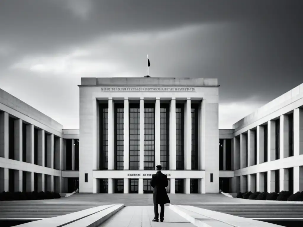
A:
POLYGON ((161 155, 160 155, 161 137, 160 136, 161 136, 160 98, 157 98, 155 105, 155 165, 161 164, 161 155))

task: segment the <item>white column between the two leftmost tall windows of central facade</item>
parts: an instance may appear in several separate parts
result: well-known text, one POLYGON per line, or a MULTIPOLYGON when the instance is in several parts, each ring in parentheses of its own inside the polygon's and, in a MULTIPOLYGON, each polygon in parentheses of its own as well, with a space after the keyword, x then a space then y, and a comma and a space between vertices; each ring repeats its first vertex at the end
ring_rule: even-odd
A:
POLYGON ((108 170, 111 169, 114 169, 114 107, 113 100, 108 99, 108 170))

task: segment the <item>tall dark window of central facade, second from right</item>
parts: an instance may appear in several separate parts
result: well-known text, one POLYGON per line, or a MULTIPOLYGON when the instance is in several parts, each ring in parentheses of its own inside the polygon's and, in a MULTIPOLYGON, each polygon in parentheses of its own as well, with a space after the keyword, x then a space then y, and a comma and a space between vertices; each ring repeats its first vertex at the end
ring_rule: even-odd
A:
POLYGON ((184 169, 184 104, 176 104, 176 169, 184 169))

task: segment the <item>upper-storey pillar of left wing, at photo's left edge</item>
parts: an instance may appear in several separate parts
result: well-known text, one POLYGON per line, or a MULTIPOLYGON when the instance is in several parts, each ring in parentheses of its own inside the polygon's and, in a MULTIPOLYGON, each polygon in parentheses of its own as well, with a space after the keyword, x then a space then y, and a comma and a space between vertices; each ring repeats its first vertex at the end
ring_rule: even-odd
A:
POLYGON ((8 113, 0 112, 0 157, 8 158, 8 113))

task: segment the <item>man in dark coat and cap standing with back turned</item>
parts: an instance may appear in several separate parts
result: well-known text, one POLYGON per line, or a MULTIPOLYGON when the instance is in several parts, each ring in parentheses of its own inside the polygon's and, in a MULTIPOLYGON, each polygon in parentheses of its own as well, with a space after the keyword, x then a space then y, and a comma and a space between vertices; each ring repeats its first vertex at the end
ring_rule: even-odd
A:
POLYGON ((161 165, 157 165, 156 170, 157 173, 153 174, 151 177, 151 186, 154 188, 154 211, 155 218, 152 220, 153 222, 159 222, 159 212, 158 212, 158 204, 160 204, 161 212, 160 212, 160 221, 164 220, 164 204, 170 203, 168 198, 166 187, 168 186, 167 176, 161 173, 161 165))

